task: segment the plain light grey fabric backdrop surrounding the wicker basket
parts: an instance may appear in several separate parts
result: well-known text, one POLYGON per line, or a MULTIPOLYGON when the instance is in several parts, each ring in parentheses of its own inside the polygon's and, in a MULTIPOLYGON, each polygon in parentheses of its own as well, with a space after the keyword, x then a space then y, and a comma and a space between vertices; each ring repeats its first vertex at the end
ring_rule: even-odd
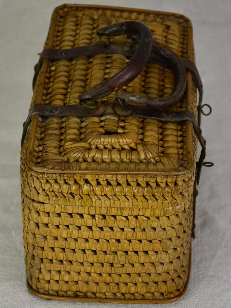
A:
MULTIPOLYGON (((64 0, 63 0, 64 1, 64 0)), ((69 2, 73 2, 69 0, 69 2)), ((230 88, 231 1, 81 0, 182 13, 193 23, 197 67, 204 103, 213 113, 202 118, 207 140, 196 210, 196 239, 187 293, 168 307, 231 306, 230 88)), ((19 154, 22 123, 32 96, 33 67, 43 48, 51 13, 60 0, 0 0, 0 307, 109 307, 119 304, 46 301, 26 288, 20 197, 19 154)), ((158 305, 157 305, 158 306, 158 305)), ((160 306, 160 305, 159 305, 160 306)), ((158 307, 159 307, 158 306, 158 307)), ((120 305, 123 308, 125 305, 120 305)), ((131 304, 128 307, 148 307, 131 304)))

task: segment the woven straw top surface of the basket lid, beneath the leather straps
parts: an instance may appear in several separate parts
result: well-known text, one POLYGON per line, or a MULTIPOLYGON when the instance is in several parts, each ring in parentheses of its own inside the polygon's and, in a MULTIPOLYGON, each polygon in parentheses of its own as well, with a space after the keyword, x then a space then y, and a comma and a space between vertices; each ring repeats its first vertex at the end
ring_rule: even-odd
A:
MULTIPOLYGON (((138 20, 150 28, 159 43, 171 48, 180 58, 194 60, 191 23, 186 18, 163 12, 150 14, 129 10, 62 6, 53 14, 45 48, 68 49, 95 44, 99 28, 138 20)), ((126 36, 113 37, 111 42, 119 46, 129 43, 126 36)), ((80 93, 115 75, 128 61, 118 54, 81 56, 73 61, 55 63, 45 60, 32 104, 79 104, 80 93)), ((172 92, 173 85, 174 75, 169 69, 149 63, 123 90, 163 97, 172 92)), ((195 114, 196 91, 191 78, 188 92, 186 96, 190 99, 184 98, 169 110, 186 108, 195 114)), ((103 103, 115 103, 115 92, 104 98, 103 103)), ((179 173, 188 168, 191 156, 195 155, 191 149, 191 124, 186 134, 187 125, 182 122, 161 123, 134 116, 104 115, 46 120, 34 116, 33 123, 30 134, 33 157, 29 161, 33 168, 41 171, 179 173)))

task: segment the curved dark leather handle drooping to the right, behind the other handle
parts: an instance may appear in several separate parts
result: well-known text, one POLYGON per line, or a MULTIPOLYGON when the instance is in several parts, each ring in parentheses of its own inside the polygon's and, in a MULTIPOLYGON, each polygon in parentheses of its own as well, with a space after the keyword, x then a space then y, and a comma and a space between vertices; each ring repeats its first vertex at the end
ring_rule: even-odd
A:
POLYGON ((136 95, 132 93, 126 93, 124 91, 117 91, 116 97, 122 99, 127 104, 141 105, 143 107, 165 109, 174 106, 183 97, 186 89, 187 76, 184 62, 169 48, 161 46, 158 43, 152 45, 152 53, 157 55, 159 59, 166 63, 167 67, 170 68, 175 75, 174 89, 172 93, 167 97, 156 97, 149 98, 146 95, 136 95))

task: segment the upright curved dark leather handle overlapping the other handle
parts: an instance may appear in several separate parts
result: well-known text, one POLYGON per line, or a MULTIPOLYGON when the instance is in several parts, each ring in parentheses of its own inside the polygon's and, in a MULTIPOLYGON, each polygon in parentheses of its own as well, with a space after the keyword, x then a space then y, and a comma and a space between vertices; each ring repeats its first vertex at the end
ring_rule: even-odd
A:
POLYGON ((124 87, 132 82, 132 80, 134 80, 145 67, 153 44, 152 32, 147 26, 141 22, 127 21, 101 28, 98 31, 100 37, 124 34, 131 36, 135 35, 138 38, 139 45, 133 57, 122 71, 95 85, 85 93, 79 94, 80 103, 85 104, 89 101, 94 101, 124 87))

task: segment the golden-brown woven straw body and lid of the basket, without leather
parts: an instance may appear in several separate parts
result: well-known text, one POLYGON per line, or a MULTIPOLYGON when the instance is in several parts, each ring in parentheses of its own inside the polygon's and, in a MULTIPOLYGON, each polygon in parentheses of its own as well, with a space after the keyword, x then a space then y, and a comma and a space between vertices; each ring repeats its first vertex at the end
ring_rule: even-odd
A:
MULTIPOLYGON (((148 10, 62 5, 45 48, 99 42, 97 30, 137 20, 180 58, 194 61, 188 18, 148 10)), ((126 36, 111 41, 123 46, 126 36)), ((126 64, 118 54, 44 60, 31 105, 79 104, 78 95, 126 64)), ((169 111, 197 113, 187 73, 169 111)), ((168 96, 174 75, 149 63, 123 90, 168 96)), ((115 102, 115 92, 103 99, 115 102)), ((134 116, 32 117, 21 152, 22 217, 29 290, 70 301, 165 303, 185 292, 190 271, 197 138, 189 121, 134 116)))

